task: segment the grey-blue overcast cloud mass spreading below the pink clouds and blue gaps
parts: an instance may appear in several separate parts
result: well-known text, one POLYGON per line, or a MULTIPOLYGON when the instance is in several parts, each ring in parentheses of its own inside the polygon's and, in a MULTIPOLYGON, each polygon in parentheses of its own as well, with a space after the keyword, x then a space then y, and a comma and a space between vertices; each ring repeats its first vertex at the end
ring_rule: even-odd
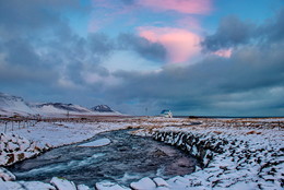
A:
POLYGON ((134 32, 76 34, 63 13, 88 14, 88 7, 29 1, 0 1, 1 92, 36 102, 108 104, 137 115, 147 107, 152 115, 169 108, 179 115, 283 116, 284 10, 259 25, 228 15, 204 36, 202 59, 166 64, 166 48, 134 32), (230 57, 211 54, 222 49, 232 49, 230 57), (110 72, 105 63, 121 50, 161 69, 110 72))

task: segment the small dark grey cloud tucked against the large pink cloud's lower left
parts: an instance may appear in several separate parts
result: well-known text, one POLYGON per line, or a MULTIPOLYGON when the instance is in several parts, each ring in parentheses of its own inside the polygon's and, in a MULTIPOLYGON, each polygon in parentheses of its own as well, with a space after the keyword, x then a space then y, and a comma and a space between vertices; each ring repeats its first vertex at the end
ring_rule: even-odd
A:
POLYGON ((158 43, 151 43, 146 38, 133 34, 120 34, 118 36, 118 47, 130 49, 141 57, 158 62, 166 61, 166 49, 158 43))

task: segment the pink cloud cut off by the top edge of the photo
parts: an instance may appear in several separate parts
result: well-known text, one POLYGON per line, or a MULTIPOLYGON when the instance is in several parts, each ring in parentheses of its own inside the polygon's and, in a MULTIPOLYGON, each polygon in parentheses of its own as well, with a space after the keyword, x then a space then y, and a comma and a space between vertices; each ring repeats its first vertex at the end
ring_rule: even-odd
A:
POLYGON ((211 11, 211 0, 139 0, 141 5, 155 10, 174 10, 187 14, 206 14, 211 11))

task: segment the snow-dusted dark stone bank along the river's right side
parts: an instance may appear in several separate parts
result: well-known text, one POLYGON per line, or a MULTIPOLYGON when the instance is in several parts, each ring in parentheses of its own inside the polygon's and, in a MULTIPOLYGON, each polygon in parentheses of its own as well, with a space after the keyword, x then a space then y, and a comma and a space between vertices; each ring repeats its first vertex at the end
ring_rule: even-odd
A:
MULTIPOLYGON (((284 147, 260 131, 157 130, 153 138, 196 156, 202 169, 188 175, 190 187, 282 189, 284 147)), ((271 131, 270 131, 271 132, 271 131)), ((277 132, 277 131, 274 131, 277 132)), ((280 131, 281 132, 281 131, 280 131)))

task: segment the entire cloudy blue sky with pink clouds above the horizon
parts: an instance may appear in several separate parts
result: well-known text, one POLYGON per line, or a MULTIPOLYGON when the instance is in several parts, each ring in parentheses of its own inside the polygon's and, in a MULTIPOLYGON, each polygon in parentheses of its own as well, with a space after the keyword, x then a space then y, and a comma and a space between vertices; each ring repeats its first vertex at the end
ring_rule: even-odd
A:
POLYGON ((284 116, 283 0, 1 0, 0 92, 128 115, 284 116))

